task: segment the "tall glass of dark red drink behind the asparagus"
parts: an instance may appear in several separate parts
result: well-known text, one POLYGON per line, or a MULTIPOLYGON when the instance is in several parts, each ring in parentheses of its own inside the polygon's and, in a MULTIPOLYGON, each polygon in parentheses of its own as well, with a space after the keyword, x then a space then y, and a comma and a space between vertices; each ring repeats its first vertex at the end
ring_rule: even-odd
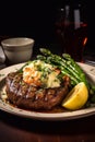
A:
POLYGON ((87 21, 83 7, 79 3, 66 4, 58 15, 56 34, 62 54, 67 52, 75 61, 82 61, 87 43, 87 21))

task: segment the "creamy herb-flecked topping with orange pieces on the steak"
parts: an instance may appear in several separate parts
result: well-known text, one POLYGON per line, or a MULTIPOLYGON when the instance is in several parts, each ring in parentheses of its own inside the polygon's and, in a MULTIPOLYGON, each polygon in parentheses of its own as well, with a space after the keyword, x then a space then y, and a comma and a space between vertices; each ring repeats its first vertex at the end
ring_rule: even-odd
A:
POLYGON ((40 60, 34 60, 23 69, 23 80, 32 85, 43 87, 59 87, 60 80, 57 67, 40 60))

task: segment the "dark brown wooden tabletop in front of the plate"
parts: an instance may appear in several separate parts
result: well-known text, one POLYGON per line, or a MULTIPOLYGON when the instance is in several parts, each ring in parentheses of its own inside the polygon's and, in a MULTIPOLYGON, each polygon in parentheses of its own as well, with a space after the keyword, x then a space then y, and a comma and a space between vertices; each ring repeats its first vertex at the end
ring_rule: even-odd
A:
POLYGON ((95 116, 43 121, 0 110, 0 142, 95 142, 95 116))

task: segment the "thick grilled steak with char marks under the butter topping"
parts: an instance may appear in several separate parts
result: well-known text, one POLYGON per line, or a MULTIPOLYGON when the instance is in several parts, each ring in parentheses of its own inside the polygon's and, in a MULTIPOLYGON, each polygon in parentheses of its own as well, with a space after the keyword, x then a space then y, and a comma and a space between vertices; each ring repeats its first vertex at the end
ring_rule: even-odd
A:
POLYGON ((11 72, 7 76, 7 95, 10 103, 25 109, 51 109, 59 105, 69 92, 70 79, 64 76, 60 87, 41 88, 23 81, 22 73, 11 72))

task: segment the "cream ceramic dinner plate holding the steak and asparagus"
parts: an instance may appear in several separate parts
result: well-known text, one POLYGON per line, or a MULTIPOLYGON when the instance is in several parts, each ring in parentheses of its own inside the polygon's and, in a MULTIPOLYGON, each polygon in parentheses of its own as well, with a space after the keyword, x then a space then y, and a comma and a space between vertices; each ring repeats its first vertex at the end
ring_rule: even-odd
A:
MULTIPOLYGON (((4 85, 5 85, 4 79, 7 74, 9 72, 16 71, 24 63, 20 63, 0 70, 0 94, 4 91, 4 85)), ((85 63, 79 63, 79 64, 82 67, 82 69, 88 76, 91 83, 95 84, 95 67, 85 63)), ((54 120, 54 121, 78 119, 78 118, 87 117, 95 114, 95 107, 80 109, 75 111, 57 113, 57 114, 35 113, 35 111, 29 111, 29 110, 24 110, 24 109, 13 107, 12 105, 3 102, 1 98, 0 98, 0 109, 24 118, 32 118, 37 120, 54 120)))

